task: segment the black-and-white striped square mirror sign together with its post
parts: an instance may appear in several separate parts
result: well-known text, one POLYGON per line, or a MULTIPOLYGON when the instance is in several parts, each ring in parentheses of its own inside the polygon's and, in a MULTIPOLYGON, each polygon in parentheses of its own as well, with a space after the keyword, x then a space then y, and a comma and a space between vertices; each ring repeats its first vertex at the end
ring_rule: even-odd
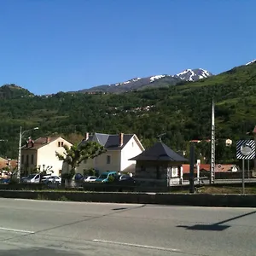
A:
POLYGON ((244 184, 244 160, 255 159, 255 141, 254 140, 240 140, 236 143, 236 158, 242 160, 242 194, 245 194, 244 184))

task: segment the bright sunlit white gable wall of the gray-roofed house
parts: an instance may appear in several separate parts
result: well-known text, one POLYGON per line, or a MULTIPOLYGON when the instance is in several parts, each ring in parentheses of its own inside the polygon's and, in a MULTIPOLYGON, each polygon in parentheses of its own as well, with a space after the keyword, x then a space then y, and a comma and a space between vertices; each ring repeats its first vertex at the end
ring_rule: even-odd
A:
POLYGON ((129 160, 143 152, 143 148, 139 146, 135 136, 125 145, 121 151, 121 172, 132 172, 136 170, 136 160, 129 160))

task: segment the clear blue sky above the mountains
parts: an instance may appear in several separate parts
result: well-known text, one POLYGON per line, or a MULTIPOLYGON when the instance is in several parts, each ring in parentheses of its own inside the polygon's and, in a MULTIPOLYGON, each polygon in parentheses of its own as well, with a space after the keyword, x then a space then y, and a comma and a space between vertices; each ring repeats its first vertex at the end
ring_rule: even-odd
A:
POLYGON ((0 84, 81 90, 256 58, 255 0, 1 0, 0 84))

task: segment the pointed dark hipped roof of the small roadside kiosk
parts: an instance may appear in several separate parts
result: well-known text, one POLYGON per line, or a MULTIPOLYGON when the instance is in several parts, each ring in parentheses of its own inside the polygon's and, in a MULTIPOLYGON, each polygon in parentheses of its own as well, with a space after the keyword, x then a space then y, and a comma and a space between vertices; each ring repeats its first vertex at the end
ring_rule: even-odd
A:
POLYGON ((138 154, 130 160, 161 160, 161 161, 188 161, 183 156, 174 152, 167 147, 165 143, 155 143, 151 148, 146 149, 143 153, 138 154))

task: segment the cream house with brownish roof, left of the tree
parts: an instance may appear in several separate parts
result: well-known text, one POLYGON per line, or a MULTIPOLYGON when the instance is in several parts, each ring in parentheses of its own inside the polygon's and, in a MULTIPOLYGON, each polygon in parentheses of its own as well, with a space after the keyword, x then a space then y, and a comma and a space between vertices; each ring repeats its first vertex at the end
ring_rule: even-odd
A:
POLYGON ((55 152, 63 154, 63 145, 71 147, 72 143, 62 137, 39 137, 35 141, 29 138, 21 147, 21 175, 27 176, 36 169, 61 175, 63 161, 55 156, 55 152))

